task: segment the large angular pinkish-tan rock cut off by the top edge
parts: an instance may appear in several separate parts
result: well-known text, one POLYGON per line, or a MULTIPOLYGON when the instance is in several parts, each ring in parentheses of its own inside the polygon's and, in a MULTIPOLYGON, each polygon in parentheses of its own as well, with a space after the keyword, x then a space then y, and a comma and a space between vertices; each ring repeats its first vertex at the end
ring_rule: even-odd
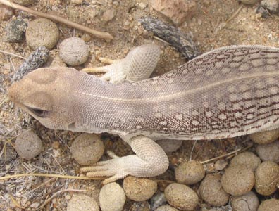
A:
POLYGON ((187 18, 192 18, 197 11, 197 4, 194 0, 152 0, 151 2, 154 10, 166 15, 178 26, 187 18))

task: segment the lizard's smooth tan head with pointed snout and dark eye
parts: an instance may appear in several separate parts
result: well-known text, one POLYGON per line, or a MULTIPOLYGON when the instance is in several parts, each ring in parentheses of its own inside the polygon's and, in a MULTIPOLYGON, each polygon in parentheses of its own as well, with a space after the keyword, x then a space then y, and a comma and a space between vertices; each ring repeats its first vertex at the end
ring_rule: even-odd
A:
POLYGON ((71 95, 77 73, 72 68, 39 68, 14 82, 8 96, 45 127, 68 129, 74 119, 71 95))

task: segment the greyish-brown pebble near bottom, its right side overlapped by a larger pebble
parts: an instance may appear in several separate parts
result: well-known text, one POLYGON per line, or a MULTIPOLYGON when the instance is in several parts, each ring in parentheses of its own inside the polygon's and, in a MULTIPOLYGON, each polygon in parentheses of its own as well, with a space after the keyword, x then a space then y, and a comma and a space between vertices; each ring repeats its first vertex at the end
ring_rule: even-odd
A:
POLYGON ((215 207, 225 205, 230 197, 221 186, 220 174, 207 174, 199 186, 199 195, 206 203, 215 207))

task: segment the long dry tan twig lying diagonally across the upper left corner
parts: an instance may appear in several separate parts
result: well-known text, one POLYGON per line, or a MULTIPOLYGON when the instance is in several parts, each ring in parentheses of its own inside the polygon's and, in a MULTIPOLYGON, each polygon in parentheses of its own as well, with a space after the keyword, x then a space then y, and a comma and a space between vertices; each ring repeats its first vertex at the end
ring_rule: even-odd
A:
POLYGON ((42 17, 42 18, 48 18, 50 20, 58 21, 60 23, 66 24, 70 27, 73 27, 77 30, 82 30, 83 32, 93 34, 95 37, 103 38, 103 39, 106 39, 106 40, 113 39, 111 34, 109 34, 108 32, 100 32, 100 31, 97 31, 97 30, 92 30, 89 27, 85 27, 84 25, 80 25, 78 23, 67 20, 66 18, 59 17, 57 15, 50 15, 50 14, 47 14, 47 13, 41 13, 39 11, 34 11, 30 8, 27 8, 25 6, 21 6, 19 4, 13 3, 13 2, 8 1, 8 0, 0 0, 0 3, 5 4, 6 6, 9 6, 11 8, 18 9, 20 11, 25 11, 26 13, 31 13, 33 15, 37 15, 37 16, 42 17))

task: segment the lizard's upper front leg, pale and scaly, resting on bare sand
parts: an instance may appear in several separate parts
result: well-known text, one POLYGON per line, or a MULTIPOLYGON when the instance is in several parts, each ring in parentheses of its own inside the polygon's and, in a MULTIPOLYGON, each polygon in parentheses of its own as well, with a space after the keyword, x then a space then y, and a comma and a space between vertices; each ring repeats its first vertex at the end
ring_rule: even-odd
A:
POLYGON ((160 56, 160 48, 155 44, 145 44, 132 49, 128 55, 121 60, 109 60, 103 58, 104 62, 111 65, 98 68, 85 68, 83 71, 106 72, 101 78, 112 83, 130 81, 140 81, 149 78, 156 68, 160 56))

